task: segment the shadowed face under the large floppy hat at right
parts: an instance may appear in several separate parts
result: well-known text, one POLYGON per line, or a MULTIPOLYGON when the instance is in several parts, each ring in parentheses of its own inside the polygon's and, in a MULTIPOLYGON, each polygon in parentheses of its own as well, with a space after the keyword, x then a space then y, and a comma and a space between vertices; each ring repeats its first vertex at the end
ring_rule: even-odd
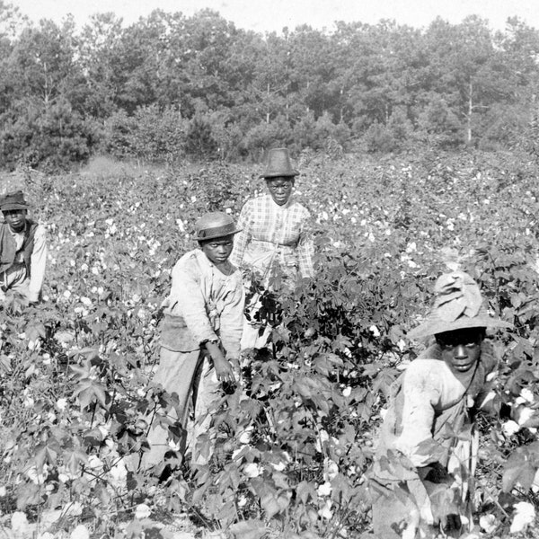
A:
POLYGON ((465 328, 436 335, 442 349, 442 359, 455 373, 472 370, 481 356, 484 328, 465 328))

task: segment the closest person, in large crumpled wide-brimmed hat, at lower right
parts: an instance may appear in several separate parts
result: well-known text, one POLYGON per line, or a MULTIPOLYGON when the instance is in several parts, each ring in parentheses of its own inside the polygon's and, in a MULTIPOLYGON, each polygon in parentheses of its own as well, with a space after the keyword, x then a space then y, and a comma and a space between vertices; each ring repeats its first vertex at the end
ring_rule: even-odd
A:
POLYGON ((463 271, 440 276, 435 294, 425 321, 408 333, 434 342, 393 385, 369 474, 376 537, 430 537, 439 527, 458 537, 473 526, 473 420, 498 364, 486 331, 511 324, 490 316, 463 271))

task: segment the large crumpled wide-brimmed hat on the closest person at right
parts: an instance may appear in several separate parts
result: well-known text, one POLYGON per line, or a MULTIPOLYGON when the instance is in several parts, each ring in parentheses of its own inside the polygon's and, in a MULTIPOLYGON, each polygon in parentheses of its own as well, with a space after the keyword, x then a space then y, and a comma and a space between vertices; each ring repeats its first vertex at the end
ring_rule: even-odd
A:
POLYGON ((511 323, 490 316, 482 305, 477 283, 464 271, 453 271, 437 278, 437 295, 432 311, 408 337, 420 340, 445 331, 465 328, 511 328, 511 323))

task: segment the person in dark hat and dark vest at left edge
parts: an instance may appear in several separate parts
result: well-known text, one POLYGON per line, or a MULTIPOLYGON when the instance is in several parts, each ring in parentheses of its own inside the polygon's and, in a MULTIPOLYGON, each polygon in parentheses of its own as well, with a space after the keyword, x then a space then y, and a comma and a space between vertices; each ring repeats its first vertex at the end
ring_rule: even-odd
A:
POLYGON ((30 304, 40 299, 47 262, 45 227, 28 217, 21 190, 4 194, 0 210, 0 301, 12 291, 30 304))

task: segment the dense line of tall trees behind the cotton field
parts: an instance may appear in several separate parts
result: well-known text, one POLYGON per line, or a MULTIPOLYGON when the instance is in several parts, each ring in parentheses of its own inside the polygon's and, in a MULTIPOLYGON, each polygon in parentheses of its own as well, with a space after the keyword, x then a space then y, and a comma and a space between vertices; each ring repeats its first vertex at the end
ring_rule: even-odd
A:
POLYGON ((536 129, 539 32, 473 15, 261 34, 219 13, 31 23, 0 0, 0 167, 497 149, 536 129))

